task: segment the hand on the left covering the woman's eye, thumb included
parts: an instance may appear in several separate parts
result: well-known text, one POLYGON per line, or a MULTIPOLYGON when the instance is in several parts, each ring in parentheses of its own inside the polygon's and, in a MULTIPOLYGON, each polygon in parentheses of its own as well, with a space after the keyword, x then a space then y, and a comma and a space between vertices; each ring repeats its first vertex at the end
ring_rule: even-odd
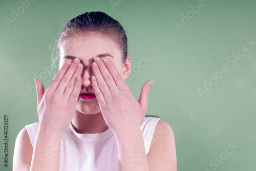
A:
POLYGON ((81 90, 83 65, 78 58, 66 61, 45 92, 44 85, 35 79, 39 129, 62 137, 71 124, 81 90))

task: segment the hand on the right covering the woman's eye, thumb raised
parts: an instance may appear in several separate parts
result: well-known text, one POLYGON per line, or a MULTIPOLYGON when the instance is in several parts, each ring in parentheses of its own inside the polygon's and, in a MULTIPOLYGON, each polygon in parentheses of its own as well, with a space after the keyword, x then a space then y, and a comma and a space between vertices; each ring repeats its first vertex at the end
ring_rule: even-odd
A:
POLYGON ((106 124, 114 134, 140 128, 147 111, 151 80, 143 85, 137 102, 112 61, 103 58, 103 62, 99 57, 94 57, 94 61, 97 64, 92 63, 92 86, 106 124))

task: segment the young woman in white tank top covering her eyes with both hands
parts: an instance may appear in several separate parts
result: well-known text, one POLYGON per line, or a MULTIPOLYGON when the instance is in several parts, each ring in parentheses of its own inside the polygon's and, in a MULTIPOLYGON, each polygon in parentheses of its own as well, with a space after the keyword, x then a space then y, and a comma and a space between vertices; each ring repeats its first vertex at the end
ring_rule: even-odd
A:
POLYGON ((177 170, 174 134, 145 117, 152 81, 136 101, 120 23, 102 12, 68 22, 58 40, 59 71, 45 91, 35 79, 39 123, 15 142, 13 170, 177 170))

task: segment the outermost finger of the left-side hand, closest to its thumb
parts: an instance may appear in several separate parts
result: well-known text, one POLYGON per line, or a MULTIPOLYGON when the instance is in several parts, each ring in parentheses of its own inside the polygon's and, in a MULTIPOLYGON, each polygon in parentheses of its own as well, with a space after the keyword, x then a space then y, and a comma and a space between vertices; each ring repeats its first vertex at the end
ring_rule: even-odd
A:
POLYGON ((56 88, 59 85, 60 80, 62 79, 62 77, 65 75, 65 73, 67 72, 69 65, 71 64, 72 60, 68 60, 65 64, 63 64, 63 66, 60 68, 60 70, 57 72, 56 76, 54 77, 54 79, 52 80, 49 88, 47 89, 47 91, 49 93, 54 92, 56 90, 56 88))

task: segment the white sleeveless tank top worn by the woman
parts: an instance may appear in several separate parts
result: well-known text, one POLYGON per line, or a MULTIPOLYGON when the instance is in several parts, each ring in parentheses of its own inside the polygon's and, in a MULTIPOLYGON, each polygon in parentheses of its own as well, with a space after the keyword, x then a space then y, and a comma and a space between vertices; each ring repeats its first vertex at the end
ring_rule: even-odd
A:
MULTIPOLYGON (((154 131, 160 118, 144 117, 140 126, 146 154, 150 151, 154 131)), ((34 148, 39 123, 25 126, 34 148)), ((79 134, 72 124, 60 143, 61 171, 118 171, 117 142, 113 132, 108 129, 102 133, 79 134)))

